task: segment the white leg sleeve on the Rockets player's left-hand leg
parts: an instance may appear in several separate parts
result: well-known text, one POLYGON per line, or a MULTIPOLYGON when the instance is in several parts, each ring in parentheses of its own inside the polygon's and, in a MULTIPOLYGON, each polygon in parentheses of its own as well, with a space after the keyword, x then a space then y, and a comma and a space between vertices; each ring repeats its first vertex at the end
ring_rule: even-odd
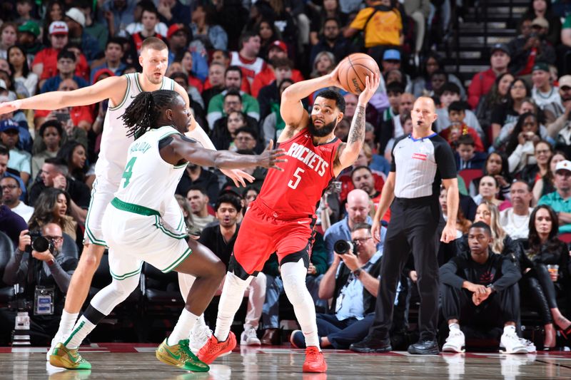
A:
POLYGON ((230 332, 230 326, 234 320, 234 315, 238 311, 246 287, 252 281, 253 276, 243 280, 232 272, 226 274, 220 303, 218 304, 218 317, 216 317, 216 330, 214 336, 219 342, 224 342, 230 332))

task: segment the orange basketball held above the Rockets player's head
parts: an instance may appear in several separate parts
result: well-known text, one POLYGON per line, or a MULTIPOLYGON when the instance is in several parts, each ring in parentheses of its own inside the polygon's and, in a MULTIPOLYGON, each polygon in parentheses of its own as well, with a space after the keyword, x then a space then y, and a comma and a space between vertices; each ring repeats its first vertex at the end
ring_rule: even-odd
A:
POLYGON ((373 73, 380 76, 377 62, 365 53, 353 53, 339 63, 339 81, 343 90, 359 95, 365 89, 365 78, 373 73))

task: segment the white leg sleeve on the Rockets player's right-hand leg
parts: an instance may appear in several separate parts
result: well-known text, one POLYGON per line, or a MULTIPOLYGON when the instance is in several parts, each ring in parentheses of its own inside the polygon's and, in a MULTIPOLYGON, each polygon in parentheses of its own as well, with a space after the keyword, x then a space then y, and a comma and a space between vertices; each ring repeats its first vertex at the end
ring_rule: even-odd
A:
POLYGON ((305 346, 318 346, 317 320, 315 319, 315 304, 308 288, 305 286, 305 275, 308 270, 303 265, 303 260, 298 262, 285 262, 281 265, 281 279, 283 289, 288 296, 295 317, 305 337, 305 346))

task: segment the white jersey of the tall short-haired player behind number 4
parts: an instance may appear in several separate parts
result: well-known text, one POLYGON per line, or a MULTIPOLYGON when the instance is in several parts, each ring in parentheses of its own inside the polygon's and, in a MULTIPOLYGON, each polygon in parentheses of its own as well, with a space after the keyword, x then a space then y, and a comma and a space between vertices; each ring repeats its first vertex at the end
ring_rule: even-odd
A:
MULTIPOLYGON (((101 136, 101 151, 95 167, 98 177, 106 178, 110 183, 118 185, 121 174, 127 163, 127 147, 133 143, 134 138, 127 137, 127 128, 121 119, 125 109, 133 99, 143 92, 138 81, 138 73, 126 74, 127 89, 123 100, 115 107, 109 106, 103 122, 103 135, 101 136)), ((163 78, 161 90, 174 90, 174 81, 163 78)))

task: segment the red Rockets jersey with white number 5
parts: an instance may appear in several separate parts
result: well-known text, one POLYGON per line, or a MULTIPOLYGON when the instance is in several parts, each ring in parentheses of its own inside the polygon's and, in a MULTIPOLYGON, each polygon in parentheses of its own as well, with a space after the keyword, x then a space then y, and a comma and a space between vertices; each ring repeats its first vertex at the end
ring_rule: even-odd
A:
POLYGON ((268 170, 256 201, 275 211, 278 218, 314 215, 323 190, 335 178, 333 161, 340 143, 335 138, 330 143, 313 145, 307 128, 279 143, 277 148, 285 150, 288 162, 278 164, 283 172, 268 170))

